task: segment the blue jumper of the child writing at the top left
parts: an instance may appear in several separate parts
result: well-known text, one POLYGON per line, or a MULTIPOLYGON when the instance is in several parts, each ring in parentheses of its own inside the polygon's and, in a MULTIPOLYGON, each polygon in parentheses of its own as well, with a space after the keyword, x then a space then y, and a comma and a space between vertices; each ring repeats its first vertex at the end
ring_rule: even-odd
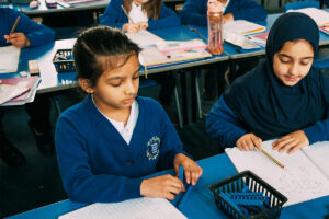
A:
POLYGON ((42 24, 29 19, 21 12, 12 9, 0 9, 0 46, 9 46, 3 35, 9 35, 16 18, 21 16, 14 33, 24 33, 30 41, 30 46, 39 46, 54 42, 54 32, 42 24))

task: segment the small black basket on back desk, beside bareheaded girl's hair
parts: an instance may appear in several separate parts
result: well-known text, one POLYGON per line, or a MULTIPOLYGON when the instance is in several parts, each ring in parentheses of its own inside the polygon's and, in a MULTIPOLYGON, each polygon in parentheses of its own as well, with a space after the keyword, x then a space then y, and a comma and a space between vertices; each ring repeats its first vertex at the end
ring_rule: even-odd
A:
POLYGON ((58 73, 76 71, 72 49, 58 49, 53 58, 53 64, 58 73))

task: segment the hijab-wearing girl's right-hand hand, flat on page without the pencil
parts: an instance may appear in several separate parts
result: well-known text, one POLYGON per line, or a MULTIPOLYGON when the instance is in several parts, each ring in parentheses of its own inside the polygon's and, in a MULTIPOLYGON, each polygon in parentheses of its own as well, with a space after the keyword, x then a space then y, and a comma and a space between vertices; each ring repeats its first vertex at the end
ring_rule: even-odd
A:
POLYGON ((273 150, 280 153, 287 151, 290 154, 297 149, 308 146, 309 141, 304 130, 296 130, 273 142, 273 150))

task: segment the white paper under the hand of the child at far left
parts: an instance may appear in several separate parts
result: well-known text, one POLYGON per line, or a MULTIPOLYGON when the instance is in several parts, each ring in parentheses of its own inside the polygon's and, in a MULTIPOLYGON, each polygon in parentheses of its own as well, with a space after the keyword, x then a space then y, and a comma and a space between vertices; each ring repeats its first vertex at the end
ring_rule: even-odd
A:
POLYGON ((21 49, 14 46, 0 47, 0 73, 18 71, 21 49))

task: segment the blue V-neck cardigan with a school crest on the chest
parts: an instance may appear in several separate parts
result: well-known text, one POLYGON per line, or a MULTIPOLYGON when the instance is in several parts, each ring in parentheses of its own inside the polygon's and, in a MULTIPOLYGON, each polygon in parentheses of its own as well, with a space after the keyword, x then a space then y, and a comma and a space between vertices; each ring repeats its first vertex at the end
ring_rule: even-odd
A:
POLYGON ((139 115, 129 145, 91 96, 65 111, 55 143, 64 188, 80 203, 112 203, 140 197, 144 176, 173 166, 185 153, 161 105, 136 97, 139 115))

